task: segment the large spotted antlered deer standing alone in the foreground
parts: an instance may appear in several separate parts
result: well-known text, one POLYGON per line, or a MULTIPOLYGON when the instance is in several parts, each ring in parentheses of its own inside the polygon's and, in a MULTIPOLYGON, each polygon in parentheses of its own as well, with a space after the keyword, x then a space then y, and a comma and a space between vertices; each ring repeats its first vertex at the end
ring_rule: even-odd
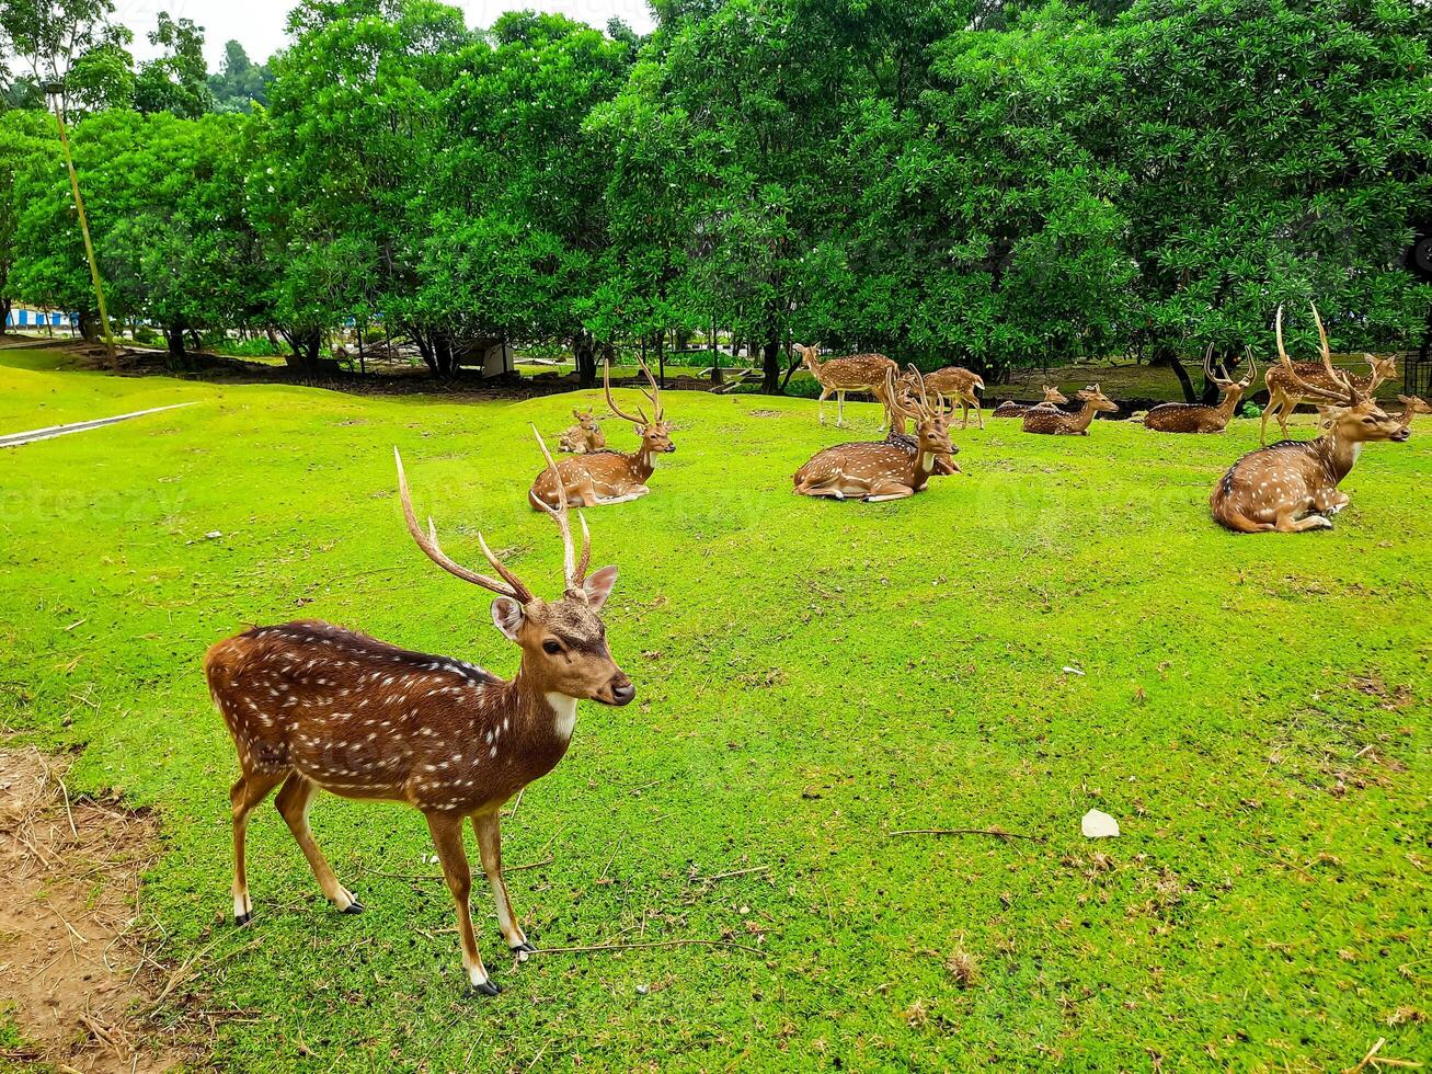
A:
MULTIPOLYGON (((547 465, 556 468, 533 428, 547 465)), ((229 792, 233 806, 233 919, 253 916, 243 843, 249 813, 275 786, 278 811, 318 878, 324 895, 344 914, 362 909, 338 882, 314 842, 308 809, 322 789, 342 798, 404 802, 427 818, 448 889, 457 902, 458 939, 468 984, 495 995, 483 967, 468 906, 471 872, 463 822, 471 819, 483 871, 497 901, 507 945, 534 951, 517 924, 503 882, 498 809, 527 783, 546 775, 571 740, 577 702, 626 705, 636 687, 611 660, 601 606, 617 580, 616 567, 587 576, 591 537, 581 520, 576 556, 566 500, 548 514, 561 533, 564 591, 547 603, 510 571, 478 534, 478 546, 501 576, 458 566, 412 513, 398 463, 398 493, 408 531, 418 547, 450 574, 497 594, 493 623, 523 650, 511 680, 445 656, 427 656, 319 621, 255 627, 219 642, 205 657, 209 693, 223 715, 242 775, 229 792)), ((558 485, 560 487, 560 485, 558 485)))

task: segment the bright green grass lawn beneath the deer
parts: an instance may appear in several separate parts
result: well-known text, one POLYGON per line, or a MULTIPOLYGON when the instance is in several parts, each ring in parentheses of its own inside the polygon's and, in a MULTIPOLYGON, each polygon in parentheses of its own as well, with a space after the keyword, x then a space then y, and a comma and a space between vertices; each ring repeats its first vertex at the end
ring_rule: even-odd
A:
POLYGON ((391 448, 450 554, 480 561, 481 528, 554 594, 527 422, 554 435, 600 392, 458 405, 0 354, 0 431, 188 400, 0 453, 0 722, 87 746, 79 788, 159 811, 146 924, 202 967, 168 1017, 226 1012, 222 1064, 1310 1070, 1378 1037, 1432 1055, 1428 1022, 1388 1024, 1432 1014, 1426 421, 1363 453, 1335 530, 1234 537, 1206 500, 1254 421, 1054 438, 987 420, 954 434, 968 475, 863 505, 798 498, 790 474, 875 438, 874 405, 843 432, 809 401, 673 394, 653 494, 589 513, 637 702, 581 707, 504 825, 510 866, 547 863, 508 881, 538 947, 762 954, 514 967, 478 879, 505 988, 478 1001, 425 826, 397 806, 314 811, 359 916, 259 811, 258 916, 226 922, 236 765, 200 657, 321 617, 510 674, 488 596, 405 534, 391 448), (1090 808, 1123 836, 1085 841, 1090 808), (990 826, 1040 842, 892 835, 990 826))

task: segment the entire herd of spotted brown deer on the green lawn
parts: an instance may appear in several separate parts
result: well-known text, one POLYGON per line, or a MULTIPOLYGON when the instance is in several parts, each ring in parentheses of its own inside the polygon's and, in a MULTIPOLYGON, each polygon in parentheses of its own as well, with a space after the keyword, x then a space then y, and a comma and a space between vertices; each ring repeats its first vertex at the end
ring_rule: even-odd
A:
MULTIPOLYGON (((1283 348, 1283 311, 1277 312, 1280 364, 1269 369, 1279 422, 1297 400, 1312 398, 1323 412, 1320 435, 1312 441, 1285 440, 1240 458, 1213 490, 1213 517, 1230 530, 1310 530, 1330 526, 1327 516, 1348 497, 1337 490, 1363 442, 1403 441, 1415 414, 1432 407, 1402 397, 1400 418, 1385 414, 1372 398, 1389 362, 1375 362, 1365 379, 1332 365, 1322 319, 1322 361, 1295 364, 1283 348)), ((855 355, 821 362, 815 348, 802 348, 826 395, 836 394, 836 421, 843 420, 843 395, 869 391, 885 407, 884 441, 838 444, 811 458, 795 474, 802 495, 899 500, 924 490, 932 475, 959 473, 949 440, 947 404, 958 400, 978 412, 975 395, 984 384, 965 369, 922 375, 911 368, 899 375, 884 355, 855 355), (908 422, 914 422, 909 432, 908 422)), ((1242 381, 1224 372, 1210 381, 1223 392, 1217 407, 1169 404, 1148 412, 1146 425, 1163 431, 1221 430, 1253 378, 1250 364, 1242 381)), ((663 417, 660 388, 643 364, 650 390, 636 415, 611 398, 607 404, 630 421, 640 447, 627 454, 606 448, 593 411, 574 411, 577 425, 561 434, 563 450, 553 460, 541 435, 537 444, 546 467, 528 493, 534 510, 557 524, 563 543, 563 591, 556 600, 537 597, 478 534, 478 547, 497 577, 464 567, 440 547, 437 528, 418 524, 402 458, 394 450, 398 495, 408 533, 438 567, 495 594, 493 624, 521 649, 517 674, 504 680, 491 672, 445 656, 415 653, 322 621, 255 627, 219 642, 205 657, 209 692, 228 725, 239 759, 239 779, 229 798, 233 819, 233 918, 253 915, 245 874, 245 836, 252 811, 278 788, 278 811, 288 823, 329 902, 342 914, 362 909, 358 895, 335 876, 308 823, 319 790, 352 799, 394 800, 418 809, 427 819, 437 859, 457 906, 458 941, 470 988, 495 995, 478 954, 470 908, 471 868, 463 841, 471 822, 483 871, 497 904, 497 924, 518 959, 536 948, 517 922, 503 879, 500 809, 527 783, 550 772, 567 750, 577 702, 621 706, 636 687, 607 649, 601 609, 617 579, 616 567, 589 573, 591 537, 579 513, 581 551, 571 533, 570 508, 623 503, 646 495, 656 455, 674 451, 663 417)), ((1077 398, 1078 414, 1058 410, 1068 402, 1045 387, 1032 407, 1001 404, 995 417, 1018 417, 1030 432, 1087 434, 1097 411, 1117 408, 1091 385, 1077 398)), ((1270 402, 1269 411, 1274 411, 1270 402)), ((952 405, 951 405, 952 415, 952 405)), ((822 414, 823 420, 823 414, 822 414)), ((1264 414, 1266 421, 1266 414, 1264 414)), ((968 410, 964 424, 968 424, 968 410)))

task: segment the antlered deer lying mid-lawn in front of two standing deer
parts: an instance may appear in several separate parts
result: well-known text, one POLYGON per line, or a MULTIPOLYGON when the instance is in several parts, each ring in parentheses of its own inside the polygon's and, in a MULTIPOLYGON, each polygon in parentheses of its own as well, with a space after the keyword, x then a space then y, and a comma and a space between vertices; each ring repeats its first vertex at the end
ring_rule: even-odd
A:
POLYGON ((891 442, 836 444, 818 451, 795 473, 799 495, 828 495, 835 500, 904 500, 921 493, 929 484, 939 454, 954 454, 944 414, 929 404, 929 395, 919 381, 919 401, 905 410, 895 391, 894 372, 888 377, 891 410, 915 422, 916 451, 909 453, 891 442))

